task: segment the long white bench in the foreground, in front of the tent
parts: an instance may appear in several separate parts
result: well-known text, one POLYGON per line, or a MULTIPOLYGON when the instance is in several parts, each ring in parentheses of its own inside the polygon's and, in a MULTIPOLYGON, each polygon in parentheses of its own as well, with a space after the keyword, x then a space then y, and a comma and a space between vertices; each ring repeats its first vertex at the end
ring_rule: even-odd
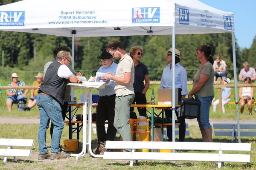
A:
POLYGON ((250 155, 224 154, 223 151, 250 151, 248 143, 217 143, 217 142, 133 142, 106 141, 107 149, 131 149, 131 152, 104 152, 103 159, 130 160, 172 160, 172 161, 216 161, 218 168, 223 162, 250 162, 250 155), (213 150, 218 153, 160 153, 135 152, 136 149, 172 149, 172 150, 213 150))

